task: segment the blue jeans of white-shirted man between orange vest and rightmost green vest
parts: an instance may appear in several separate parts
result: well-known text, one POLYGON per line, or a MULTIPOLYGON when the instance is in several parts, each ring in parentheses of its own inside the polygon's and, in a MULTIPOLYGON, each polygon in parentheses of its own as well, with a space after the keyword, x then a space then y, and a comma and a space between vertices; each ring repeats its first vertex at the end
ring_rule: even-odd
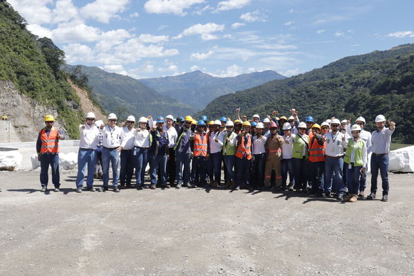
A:
POLYGON ((323 192, 330 194, 335 190, 338 194, 344 194, 344 181, 342 180, 342 172, 344 167, 344 158, 325 158, 325 185, 323 192), (333 185, 332 185, 333 184, 333 185))

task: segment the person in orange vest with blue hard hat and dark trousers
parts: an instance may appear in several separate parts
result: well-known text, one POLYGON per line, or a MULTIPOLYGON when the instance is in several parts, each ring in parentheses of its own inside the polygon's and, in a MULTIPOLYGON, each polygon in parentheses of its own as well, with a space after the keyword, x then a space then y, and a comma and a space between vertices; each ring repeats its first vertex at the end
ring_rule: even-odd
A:
POLYGON ((191 163, 191 174, 194 183, 190 187, 204 187, 207 185, 206 178, 206 158, 209 145, 209 135, 205 132, 204 120, 197 122, 196 132, 194 132, 191 140, 191 151, 193 152, 193 161, 191 163))

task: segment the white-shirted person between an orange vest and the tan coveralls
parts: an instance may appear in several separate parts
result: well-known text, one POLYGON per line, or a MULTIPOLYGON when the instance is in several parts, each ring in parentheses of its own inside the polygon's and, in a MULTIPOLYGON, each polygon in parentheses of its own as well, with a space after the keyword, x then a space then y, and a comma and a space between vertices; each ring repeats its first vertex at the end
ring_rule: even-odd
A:
POLYGON ((260 189, 264 185, 265 177, 265 162, 266 149, 265 144, 267 137, 263 135, 263 122, 258 122, 256 125, 256 134, 252 134, 252 154, 253 154, 253 169, 252 169, 252 185, 260 189))

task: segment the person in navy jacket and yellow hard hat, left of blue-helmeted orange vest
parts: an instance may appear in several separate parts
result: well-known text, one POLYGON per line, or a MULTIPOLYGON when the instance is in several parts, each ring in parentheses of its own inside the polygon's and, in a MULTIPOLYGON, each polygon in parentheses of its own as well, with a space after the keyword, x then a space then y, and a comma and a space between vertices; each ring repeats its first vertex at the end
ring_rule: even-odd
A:
POLYGON ((176 188, 180 189, 182 185, 191 186, 190 184, 190 162, 191 162, 191 122, 193 118, 186 116, 184 126, 176 142, 176 188))

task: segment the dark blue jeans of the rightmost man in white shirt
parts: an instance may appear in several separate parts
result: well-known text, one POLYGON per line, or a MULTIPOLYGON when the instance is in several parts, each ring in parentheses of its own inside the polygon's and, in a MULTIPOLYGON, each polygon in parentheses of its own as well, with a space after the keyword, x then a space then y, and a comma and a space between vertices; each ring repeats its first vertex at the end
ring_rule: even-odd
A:
POLYGON ((377 192, 378 169, 382 178, 382 194, 388 194, 390 183, 388 183, 388 155, 371 155, 371 192, 377 192))

